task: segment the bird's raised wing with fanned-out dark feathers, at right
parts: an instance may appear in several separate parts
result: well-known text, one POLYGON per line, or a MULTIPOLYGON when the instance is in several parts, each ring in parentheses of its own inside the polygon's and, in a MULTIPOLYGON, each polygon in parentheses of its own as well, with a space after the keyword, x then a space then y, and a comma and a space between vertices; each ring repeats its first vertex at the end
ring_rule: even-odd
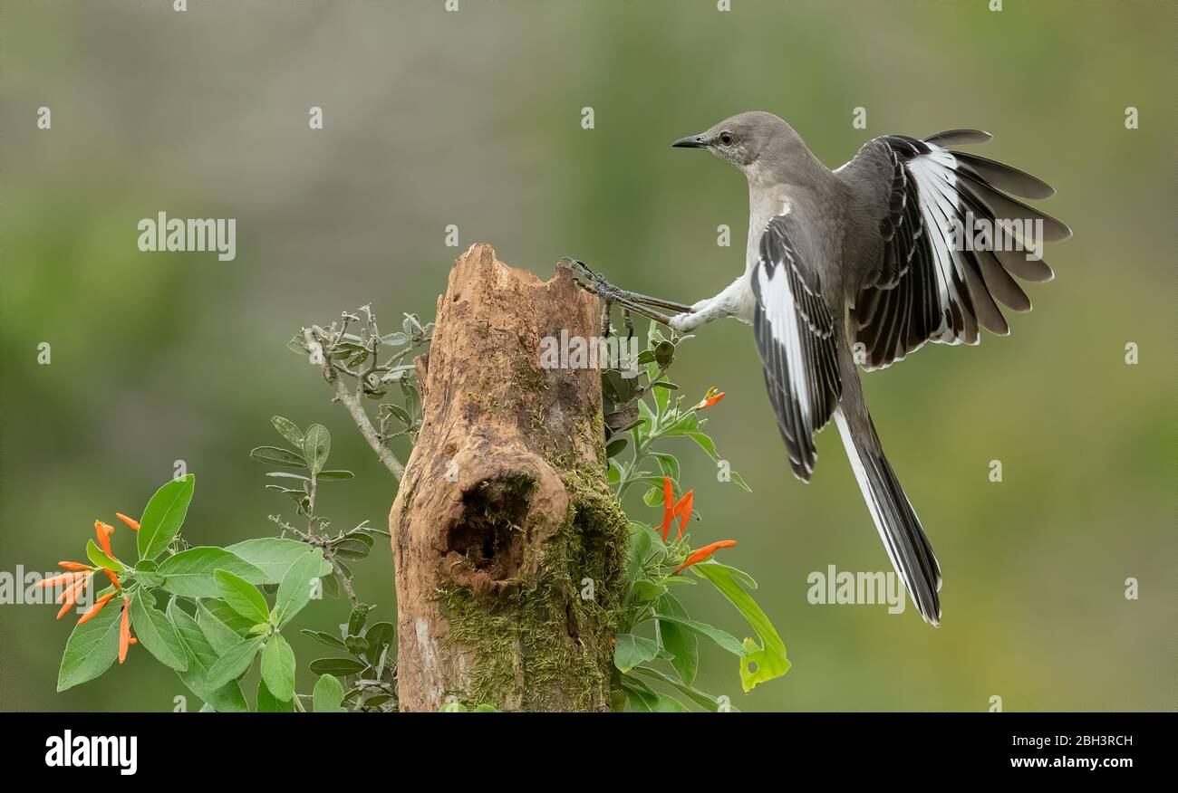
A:
MULTIPOLYGON (((862 345, 866 368, 902 359, 925 341, 975 345, 979 326, 1010 333, 999 309, 1030 311, 1031 301, 1014 280, 1047 281, 1051 268, 1011 242, 1063 240, 1071 231, 1054 218, 1006 193, 1041 199, 1054 191, 1034 176, 984 156, 944 148, 979 144, 990 134, 953 129, 926 140, 887 135, 869 141, 855 160, 869 164, 872 179, 884 179, 886 206, 879 207, 882 254, 867 274, 851 309, 851 332, 862 345), (998 220, 995 220, 998 219, 998 220), (1007 249, 975 249, 977 234, 1000 224, 1015 233, 1007 249), (1031 234, 1032 236, 1034 234, 1031 234)), ((852 161, 848 165, 854 165, 852 161)))

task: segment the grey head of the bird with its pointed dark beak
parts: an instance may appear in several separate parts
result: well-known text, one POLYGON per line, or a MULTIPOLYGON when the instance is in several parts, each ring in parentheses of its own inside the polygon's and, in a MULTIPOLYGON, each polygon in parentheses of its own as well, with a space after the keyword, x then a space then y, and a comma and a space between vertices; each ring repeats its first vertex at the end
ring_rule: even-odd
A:
POLYGON ((724 119, 707 132, 680 138, 671 146, 706 148, 744 172, 749 181, 788 178, 795 164, 813 159, 794 128, 773 113, 754 111, 724 119))

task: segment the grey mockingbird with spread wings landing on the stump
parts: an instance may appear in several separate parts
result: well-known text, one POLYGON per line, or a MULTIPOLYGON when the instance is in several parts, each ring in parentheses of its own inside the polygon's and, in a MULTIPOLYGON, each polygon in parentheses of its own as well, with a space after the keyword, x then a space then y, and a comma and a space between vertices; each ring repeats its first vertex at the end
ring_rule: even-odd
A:
POLYGON ((946 148, 990 138, 975 129, 925 140, 886 135, 832 172, 772 113, 735 115, 673 145, 707 149, 748 179, 740 278, 691 306, 600 284, 607 301, 681 333, 723 316, 753 326, 794 474, 809 481, 814 433, 833 415, 892 565, 934 626, 940 565, 884 457, 856 365, 886 367, 926 341, 975 345, 979 327, 1006 335, 998 304, 1031 308, 1012 275, 1053 276, 1038 258, 1041 242, 1071 231, 1005 193, 1041 199, 1054 191, 1010 166, 946 148))

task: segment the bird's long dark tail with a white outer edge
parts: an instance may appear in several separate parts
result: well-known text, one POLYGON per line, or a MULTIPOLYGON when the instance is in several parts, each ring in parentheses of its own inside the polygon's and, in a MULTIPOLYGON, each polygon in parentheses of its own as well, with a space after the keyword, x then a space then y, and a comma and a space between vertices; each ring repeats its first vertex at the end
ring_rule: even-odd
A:
MULTIPOLYGON (((848 400, 843 400, 846 404, 848 400)), ((834 413, 842 445, 847 449, 851 467, 863 492, 863 500, 871 509, 875 528, 879 529, 892 566, 904 581, 905 588, 916 604, 926 622, 937 626, 941 619, 941 567, 933 555, 933 546, 920 527, 920 519, 900 488, 895 472, 884 457, 879 435, 862 399, 849 406, 851 417, 840 406, 834 413), (858 409, 855 409, 858 408, 858 409)))

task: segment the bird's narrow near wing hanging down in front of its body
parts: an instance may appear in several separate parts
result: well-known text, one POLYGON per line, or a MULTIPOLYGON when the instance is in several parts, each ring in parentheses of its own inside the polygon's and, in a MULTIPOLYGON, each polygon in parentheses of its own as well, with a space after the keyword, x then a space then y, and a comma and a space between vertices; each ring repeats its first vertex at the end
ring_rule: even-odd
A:
MULTIPOLYGON (((815 262, 790 240, 796 222, 776 215, 761 234, 753 271, 753 331, 765 362, 765 385, 794 474, 808 481, 818 452, 814 433, 830 419, 842 381, 835 358, 834 316, 815 262)), ((796 229, 795 236, 796 236, 796 229)))

